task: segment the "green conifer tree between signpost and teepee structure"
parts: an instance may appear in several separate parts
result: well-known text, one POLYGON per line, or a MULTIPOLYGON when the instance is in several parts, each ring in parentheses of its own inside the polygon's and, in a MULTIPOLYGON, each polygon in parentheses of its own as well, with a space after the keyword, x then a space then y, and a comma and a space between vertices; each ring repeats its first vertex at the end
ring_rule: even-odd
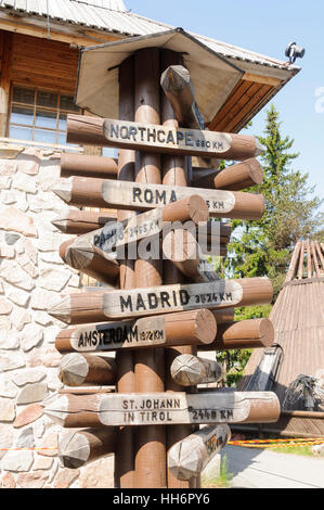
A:
MULTIPOLYGON (((274 299, 283 284, 291 251, 299 239, 323 241, 323 216, 316 212, 321 205, 314 187, 308 183, 309 175, 291 169, 298 157, 293 151, 294 140, 283 137, 280 113, 273 104, 267 111, 262 137, 261 156, 263 183, 249 188, 248 192, 261 193, 265 212, 258 221, 232 221, 232 242, 223 264, 224 276, 254 278, 268 276, 274 288, 274 299)), ((245 320, 269 317, 272 305, 235 309, 235 319, 245 320)), ((219 353, 217 358, 226 367, 226 383, 239 380, 250 350, 219 353)))

